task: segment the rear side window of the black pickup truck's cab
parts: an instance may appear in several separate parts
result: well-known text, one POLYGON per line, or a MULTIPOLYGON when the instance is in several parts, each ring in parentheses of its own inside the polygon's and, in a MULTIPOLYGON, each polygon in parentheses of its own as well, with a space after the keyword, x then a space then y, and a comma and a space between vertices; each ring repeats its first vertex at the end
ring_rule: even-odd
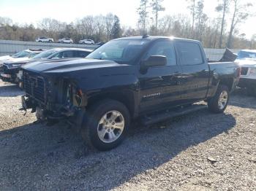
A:
POLYGON ((181 55, 181 65, 198 65, 203 63, 202 53, 197 43, 177 42, 177 48, 181 55))

